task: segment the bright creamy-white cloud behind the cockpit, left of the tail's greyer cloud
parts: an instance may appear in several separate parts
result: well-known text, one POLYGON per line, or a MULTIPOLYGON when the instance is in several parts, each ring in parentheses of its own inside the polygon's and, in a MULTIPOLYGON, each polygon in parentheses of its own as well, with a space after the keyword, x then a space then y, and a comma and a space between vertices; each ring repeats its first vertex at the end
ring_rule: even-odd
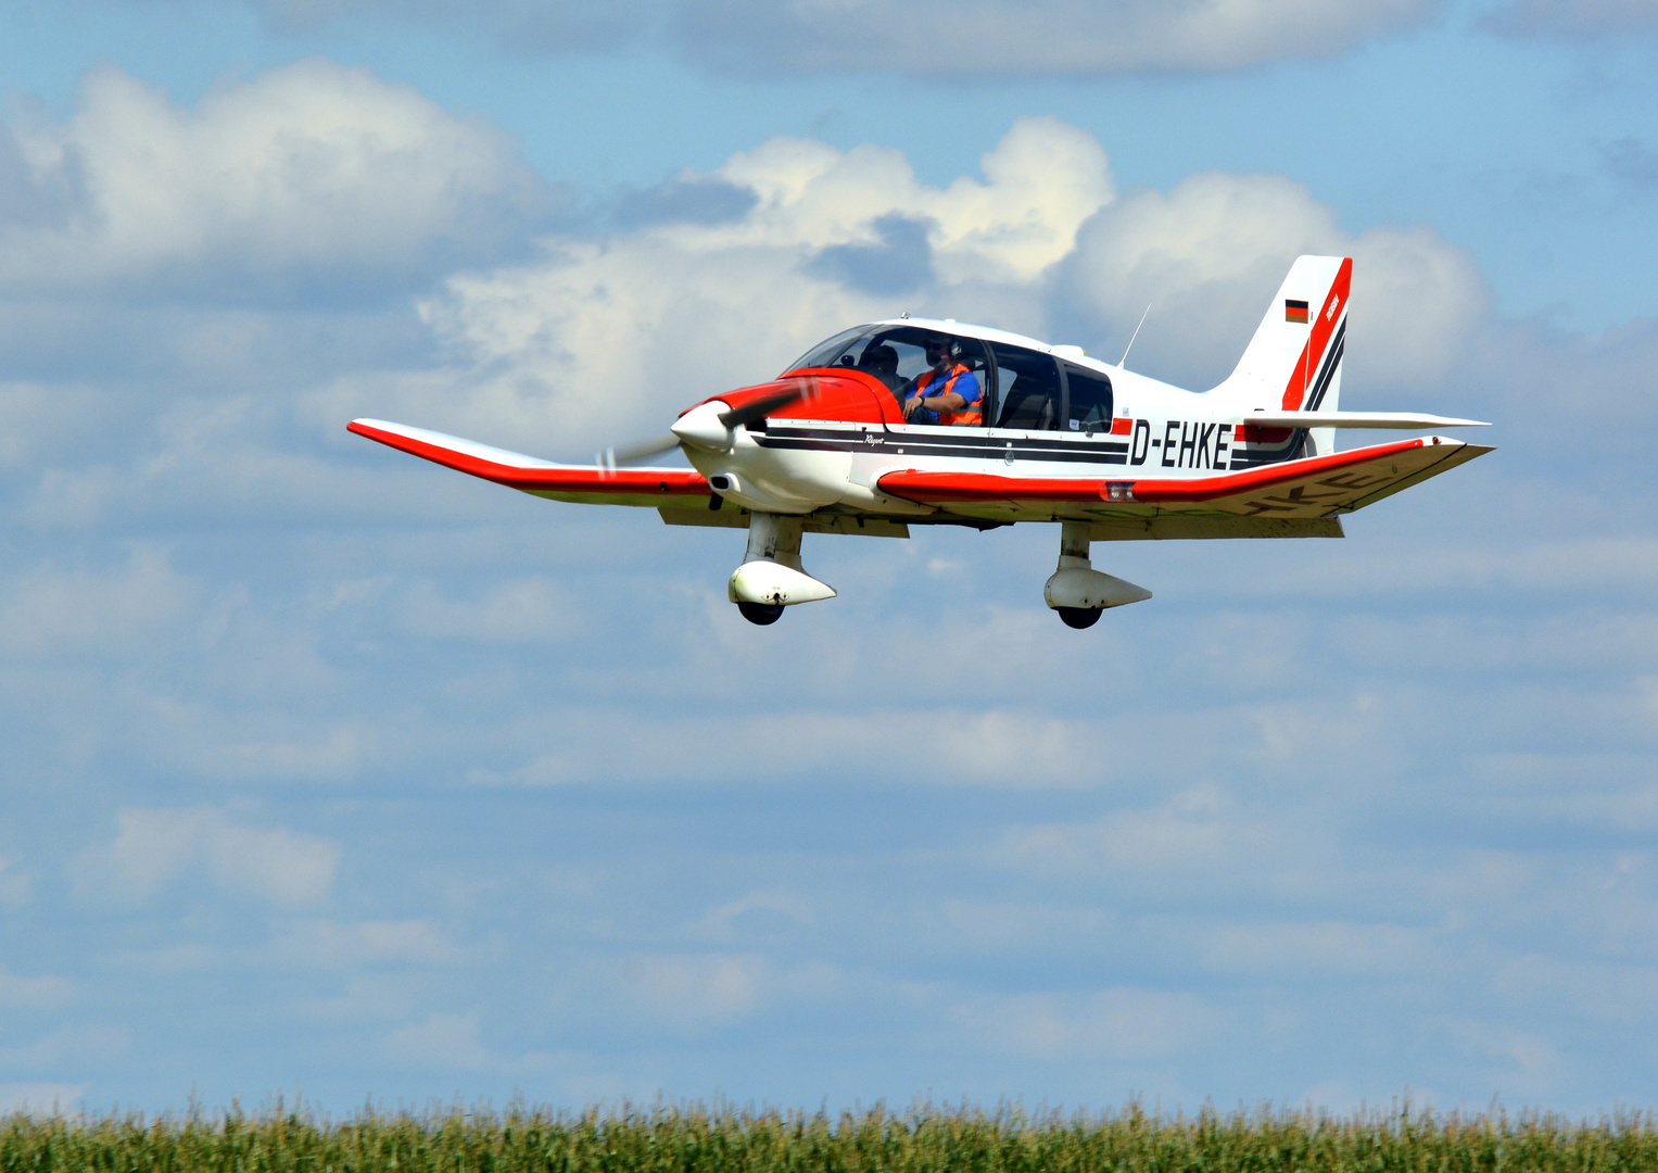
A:
POLYGON ((710 176, 754 192, 739 219, 550 239, 534 264, 454 277, 424 315, 469 372, 366 388, 343 380, 315 410, 376 402, 381 415, 569 458, 657 430, 698 398, 769 378, 847 324, 905 307, 960 302, 952 317, 977 305, 1035 327, 1036 279, 1111 197, 1104 151, 1054 119, 1021 119, 983 169, 985 179, 932 187, 897 151, 773 139, 710 176), (826 249, 879 249, 877 222, 894 219, 925 226, 909 300, 817 264, 826 249))

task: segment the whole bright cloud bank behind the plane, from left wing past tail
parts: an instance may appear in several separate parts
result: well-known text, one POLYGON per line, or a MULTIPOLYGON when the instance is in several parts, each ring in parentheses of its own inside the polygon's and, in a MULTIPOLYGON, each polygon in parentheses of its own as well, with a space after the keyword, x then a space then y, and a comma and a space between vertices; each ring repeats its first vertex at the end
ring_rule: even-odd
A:
POLYGON ((1343 232, 1277 176, 1194 176, 1117 196, 1101 144, 1026 118, 982 176, 922 183, 904 154, 778 138, 678 189, 746 192, 451 279, 423 314, 446 372, 342 380, 318 413, 391 415, 567 458, 655 431, 759 382, 851 324, 904 309, 1056 342, 1126 340, 1136 367, 1219 382, 1302 252, 1355 256, 1355 378, 1442 373, 1487 307, 1461 249, 1428 227, 1343 232))

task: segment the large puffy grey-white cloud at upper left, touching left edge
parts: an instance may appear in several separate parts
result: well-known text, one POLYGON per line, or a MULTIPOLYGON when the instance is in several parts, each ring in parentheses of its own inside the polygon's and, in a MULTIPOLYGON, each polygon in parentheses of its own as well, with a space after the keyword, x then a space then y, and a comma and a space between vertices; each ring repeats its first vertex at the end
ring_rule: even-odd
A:
POLYGON ((308 60, 194 110, 116 68, 0 129, 0 289, 358 289, 489 256, 545 186, 496 129, 308 60))

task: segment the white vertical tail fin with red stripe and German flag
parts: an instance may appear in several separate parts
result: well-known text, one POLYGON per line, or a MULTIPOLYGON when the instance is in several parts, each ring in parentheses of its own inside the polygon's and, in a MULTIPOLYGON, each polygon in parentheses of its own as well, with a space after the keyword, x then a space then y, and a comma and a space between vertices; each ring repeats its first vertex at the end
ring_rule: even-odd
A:
MULTIPOLYGON (((1335 411, 1341 398, 1351 257, 1297 257, 1237 368, 1212 395, 1240 411, 1335 411)), ((1311 455, 1335 448, 1333 428, 1310 433, 1311 455)))

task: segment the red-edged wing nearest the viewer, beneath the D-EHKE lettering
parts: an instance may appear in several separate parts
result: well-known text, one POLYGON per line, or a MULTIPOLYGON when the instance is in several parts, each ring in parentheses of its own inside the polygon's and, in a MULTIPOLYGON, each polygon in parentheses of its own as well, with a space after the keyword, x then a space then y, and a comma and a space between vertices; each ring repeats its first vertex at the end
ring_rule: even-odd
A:
POLYGON ((1164 534, 1144 534, 1152 538, 1336 536, 1340 526, 1328 521, 1338 514, 1361 509, 1487 451, 1492 450, 1429 436, 1182 479, 1059 479, 897 470, 884 475, 879 486, 907 501, 975 518, 1184 523, 1166 526, 1164 534), (1297 524, 1260 524, 1267 519, 1297 524), (1300 524, 1320 521, 1325 524, 1300 524))

